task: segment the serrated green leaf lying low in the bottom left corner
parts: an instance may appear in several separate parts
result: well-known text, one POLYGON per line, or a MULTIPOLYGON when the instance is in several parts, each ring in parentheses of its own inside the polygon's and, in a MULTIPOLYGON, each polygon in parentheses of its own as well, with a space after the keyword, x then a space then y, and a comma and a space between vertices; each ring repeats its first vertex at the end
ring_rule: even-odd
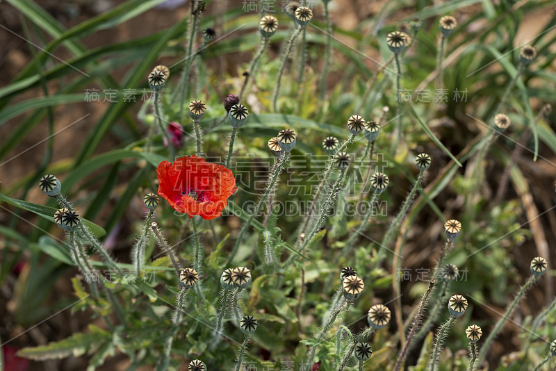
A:
POLYGON ((69 338, 52 342, 48 345, 23 348, 17 352, 17 356, 32 359, 33 361, 61 359, 69 356, 79 357, 88 352, 90 347, 111 339, 109 331, 100 329, 94 324, 89 325, 89 331, 88 333, 74 333, 69 338))

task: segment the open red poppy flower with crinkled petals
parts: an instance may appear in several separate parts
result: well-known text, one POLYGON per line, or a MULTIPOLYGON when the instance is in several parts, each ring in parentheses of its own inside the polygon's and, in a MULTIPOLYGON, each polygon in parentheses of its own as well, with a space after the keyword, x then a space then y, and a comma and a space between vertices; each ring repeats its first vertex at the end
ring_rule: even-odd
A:
POLYGON ((228 197, 238 189, 231 170, 195 155, 177 158, 173 163, 163 161, 156 174, 158 195, 189 217, 201 215, 206 220, 219 217, 228 197))

